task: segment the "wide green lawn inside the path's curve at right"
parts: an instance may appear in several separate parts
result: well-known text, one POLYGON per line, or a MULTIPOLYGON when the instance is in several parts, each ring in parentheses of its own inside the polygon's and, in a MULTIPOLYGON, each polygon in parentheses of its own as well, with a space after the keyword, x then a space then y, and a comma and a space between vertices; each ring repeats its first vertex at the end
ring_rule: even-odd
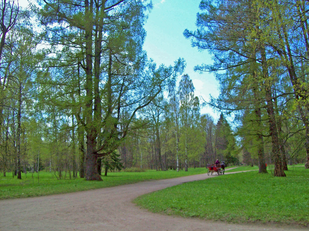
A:
POLYGON ((134 202, 155 213, 183 217, 308 226, 309 171, 303 166, 289 169, 287 177, 252 171, 188 182, 143 195, 134 202))

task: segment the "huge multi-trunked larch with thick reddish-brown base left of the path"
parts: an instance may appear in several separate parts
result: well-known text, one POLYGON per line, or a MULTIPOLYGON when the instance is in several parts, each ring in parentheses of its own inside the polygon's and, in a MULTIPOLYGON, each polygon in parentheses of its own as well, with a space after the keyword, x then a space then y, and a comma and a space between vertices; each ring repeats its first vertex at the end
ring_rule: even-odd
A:
POLYGON ((146 59, 142 51, 146 33, 142 26, 146 20, 144 10, 151 3, 44 0, 40 4, 42 8, 37 12, 52 35, 54 53, 66 61, 60 64, 79 64, 83 68, 84 120, 78 114, 76 118, 86 132, 85 179, 101 180, 97 158, 117 149, 137 111, 176 78, 183 62, 156 69, 146 59), (70 49, 74 56, 62 56, 63 49, 70 49), (130 108, 129 116, 122 121, 120 131, 120 115, 125 108, 130 108))

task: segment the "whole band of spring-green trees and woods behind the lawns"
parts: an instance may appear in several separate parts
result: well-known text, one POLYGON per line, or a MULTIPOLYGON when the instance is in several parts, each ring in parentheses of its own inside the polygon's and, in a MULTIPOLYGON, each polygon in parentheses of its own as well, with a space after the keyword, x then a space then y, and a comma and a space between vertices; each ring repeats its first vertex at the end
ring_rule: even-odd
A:
MULTIPOLYGON (((2 0, 0 170, 101 180, 108 170, 309 166, 308 2, 201 1, 192 46, 219 96, 194 95, 185 60, 143 51, 150 1, 2 0), (215 121, 206 104, 221 111, 215 121), (229 122, 225 119, 230 115, 229 122)), ((151 14, 151 13, 150 13, 151 14)), ((193 48, 192 48, 193 49, 193 48)))

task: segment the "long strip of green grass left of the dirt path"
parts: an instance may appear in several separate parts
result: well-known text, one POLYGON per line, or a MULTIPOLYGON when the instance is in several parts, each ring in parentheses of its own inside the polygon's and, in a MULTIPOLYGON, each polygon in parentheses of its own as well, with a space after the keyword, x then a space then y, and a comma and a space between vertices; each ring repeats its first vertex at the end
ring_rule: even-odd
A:
MULTIPOLYGON (((12 172, 7 172, 6 177, 0 175, 0 199, 37 197, 51 194, 71 193, 89 189, 112 187, 121 184, 131 184, 144 180, 159 180, 205 173, 205 168, 189 168, 176 172, 147 170, 146 172, 108 172, 108 176, 102 176, 103 181, 86 181, 81 178, 57 180, 53 172, 40 172, 22 174, 22 180, 16 176, 12 178, 12 172)), ((63 173, 64 174, 64 173, 63 173)), ((68 178, 68 176, 67 176, 68 178)))

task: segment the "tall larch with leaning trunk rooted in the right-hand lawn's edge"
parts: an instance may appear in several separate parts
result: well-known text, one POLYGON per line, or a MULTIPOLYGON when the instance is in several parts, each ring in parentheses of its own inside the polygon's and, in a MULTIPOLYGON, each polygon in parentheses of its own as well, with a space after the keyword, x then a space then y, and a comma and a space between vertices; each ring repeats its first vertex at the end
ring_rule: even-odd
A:
MULTIPOLYGON (((263 22, 267 16, 258 14, 258 7, 253 8, 251 2, 201 1, 200 9, 205 10, 205 13, 197 15, 198 30, 195 32, 185 30, 184 35, 192 39, 193 46, 201 50, 207 49, 214 55, 213 65, 197 66, 196 70, 219 71, 241 68, 250 62, 252 53, 256 55, 255 60, 260 64, 257 72, 258 83, 264 91, 263 97, 267 102, 269 133, 272 137, 275 159, 274 175, 285 176, 272 101, 273 79, 269 75, 270 64, 265 49, 265 39, 268 35, 263 22), (246 20, 243 20, 244 18, 246 20)), ((255 80, 251 78, 251 81, 255 80)))

